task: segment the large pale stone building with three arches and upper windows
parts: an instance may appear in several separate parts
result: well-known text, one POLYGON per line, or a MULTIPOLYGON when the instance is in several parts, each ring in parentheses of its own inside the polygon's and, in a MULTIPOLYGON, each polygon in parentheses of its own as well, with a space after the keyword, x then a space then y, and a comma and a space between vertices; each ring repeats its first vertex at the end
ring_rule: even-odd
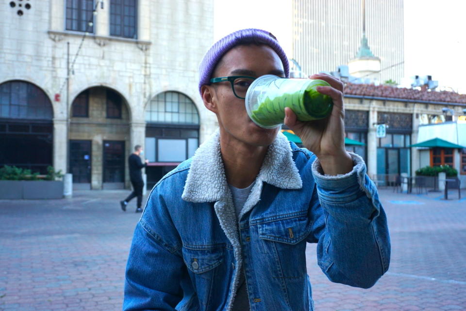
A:
POLYGON ((0 163, 129 186, 145 145, 154 182, 216 126, 197 89, 212 0, 11 0, 0 4, 0 163))

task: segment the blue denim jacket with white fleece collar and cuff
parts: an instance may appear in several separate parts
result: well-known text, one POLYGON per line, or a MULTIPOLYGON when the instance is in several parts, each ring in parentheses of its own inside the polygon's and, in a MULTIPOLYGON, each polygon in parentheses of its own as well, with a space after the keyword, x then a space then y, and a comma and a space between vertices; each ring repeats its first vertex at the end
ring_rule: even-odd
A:
POLYGON ((218 131, 152 189, 126 268, 124 310, 231 310, 244 266, 251 310, 313 310, 306 243, 333 281, 368 288, 388 269, 386 216, 361 157, 326 176, 278 134, 236 218, 218 131))

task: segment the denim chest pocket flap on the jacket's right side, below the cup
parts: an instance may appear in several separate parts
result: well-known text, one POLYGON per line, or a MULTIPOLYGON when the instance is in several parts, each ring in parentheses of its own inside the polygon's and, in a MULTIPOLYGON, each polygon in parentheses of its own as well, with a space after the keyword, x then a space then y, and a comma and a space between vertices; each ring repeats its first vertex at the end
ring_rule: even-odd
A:
POLYGON ((297 244, 311 232, 312 222, 307 215, 278 219, 258 224, 259 237, 264 240, 297 244))

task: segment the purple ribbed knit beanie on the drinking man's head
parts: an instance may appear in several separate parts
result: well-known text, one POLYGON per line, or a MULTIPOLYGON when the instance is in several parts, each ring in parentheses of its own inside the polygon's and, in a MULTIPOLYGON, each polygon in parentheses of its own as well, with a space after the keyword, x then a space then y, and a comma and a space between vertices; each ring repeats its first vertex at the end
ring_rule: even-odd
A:
POLYGON ((260 29, 243 29, 230 33, 229 35, 218 40, 212 47, 205 53, 202 62, 199 66, 199 92, 202 85, 209 85, 212 73, 223 57, 223 55, 235 46, 241 44, 260 43, 266 44, 277 52, 282 60, 283 70, 285 77, 289 76, 290 65, 283 48, 277 41, 277 38, 268 31, 260 29))

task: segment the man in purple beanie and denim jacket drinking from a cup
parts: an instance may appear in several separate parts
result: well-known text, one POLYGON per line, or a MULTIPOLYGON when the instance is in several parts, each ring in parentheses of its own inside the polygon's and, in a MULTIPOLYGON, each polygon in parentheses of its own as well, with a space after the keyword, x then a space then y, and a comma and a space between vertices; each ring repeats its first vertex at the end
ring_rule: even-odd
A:
MULTIPOLYGON (((236 31, 200 65, 200 93, 219 130, 153 188, 136 226, 124 310, 313 310, 306 242, 339 283, 368 288, 388 269, 390 241, 377 190, 360 156, 344 148, 343 85, 318 92, 331 116, 284 123, 307 149, 248 117, 230 81, 289 64, 267 31, 236 31), (216 80, 215 80, 216 81, 216 80)), ((242 84, 242 86, 244 86, 242 84)))

